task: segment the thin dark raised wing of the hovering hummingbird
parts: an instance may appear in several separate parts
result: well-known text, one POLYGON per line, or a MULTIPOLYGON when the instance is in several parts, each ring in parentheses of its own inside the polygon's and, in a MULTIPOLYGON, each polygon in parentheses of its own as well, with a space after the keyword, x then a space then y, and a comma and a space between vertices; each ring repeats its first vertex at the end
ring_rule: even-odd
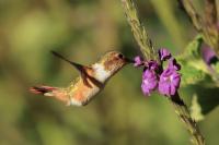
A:
POLYGON ((88 82, 88 77, 89 77, 89 75, 88 75, 88 73, 87 73, 88 67, 84 67, 84 65, 82 65, 82 64, 79 64, 79 63, 76 63, 76 62, 73 62, 73 61, 70 61, 70 60, 66 59, 65 57, 62 57, 61 55, 59 55, 59 53, 56 52, 56 51, 51 51, 51 53, 53 53, 54 56, 56 56, 56 57, 58 57, 58 58, 60 58, 60 59, 62 59, 62 60, 69 62, 71 65, 73 65, 73 67, 81 73, 81 77, 82 77, 84 84, 85 84, 87 86, 91 87, 91 84, 88 82))

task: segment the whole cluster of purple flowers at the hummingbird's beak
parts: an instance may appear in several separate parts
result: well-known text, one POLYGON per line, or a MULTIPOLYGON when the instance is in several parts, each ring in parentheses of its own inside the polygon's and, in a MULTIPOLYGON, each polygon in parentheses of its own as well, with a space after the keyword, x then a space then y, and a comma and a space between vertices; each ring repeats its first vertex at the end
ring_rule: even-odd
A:
POLYGON ((168 49, 161 48, 159 50, 159 58, 161 64, 154 60, 145 61, 137 56, 135 58, 135 67, 143 67, 141 89, 146 96, 150 96, 152 90, 158 88, 159 93, 165 96, 175 95, 181 83, 181 65, 172 57, 168 49), (168 65, 162 65, 168 61, 168 65))

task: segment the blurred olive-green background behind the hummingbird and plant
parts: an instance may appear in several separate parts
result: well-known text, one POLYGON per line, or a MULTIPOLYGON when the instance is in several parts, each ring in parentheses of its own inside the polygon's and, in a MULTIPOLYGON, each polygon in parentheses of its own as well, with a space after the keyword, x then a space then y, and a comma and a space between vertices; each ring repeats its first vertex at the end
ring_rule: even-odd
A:
MULTIPOLYGON (((183 52, 196 33, 176 0, 137 5, 155 48, 183 52)), ((196 7, 201 10, 198 0, 196 7)), ((32 95, 32 85, 65 86, 78 75, 50 50, 83 64, 107 50, 140 53, 119 0, 0 0, 1 145, 189 144, 168 100, 141 94, 141 70, 131 65, 85 107, 32 95)), ((209 145, 219 143, 218 122, 216 109, 199 123, 209 145)))

